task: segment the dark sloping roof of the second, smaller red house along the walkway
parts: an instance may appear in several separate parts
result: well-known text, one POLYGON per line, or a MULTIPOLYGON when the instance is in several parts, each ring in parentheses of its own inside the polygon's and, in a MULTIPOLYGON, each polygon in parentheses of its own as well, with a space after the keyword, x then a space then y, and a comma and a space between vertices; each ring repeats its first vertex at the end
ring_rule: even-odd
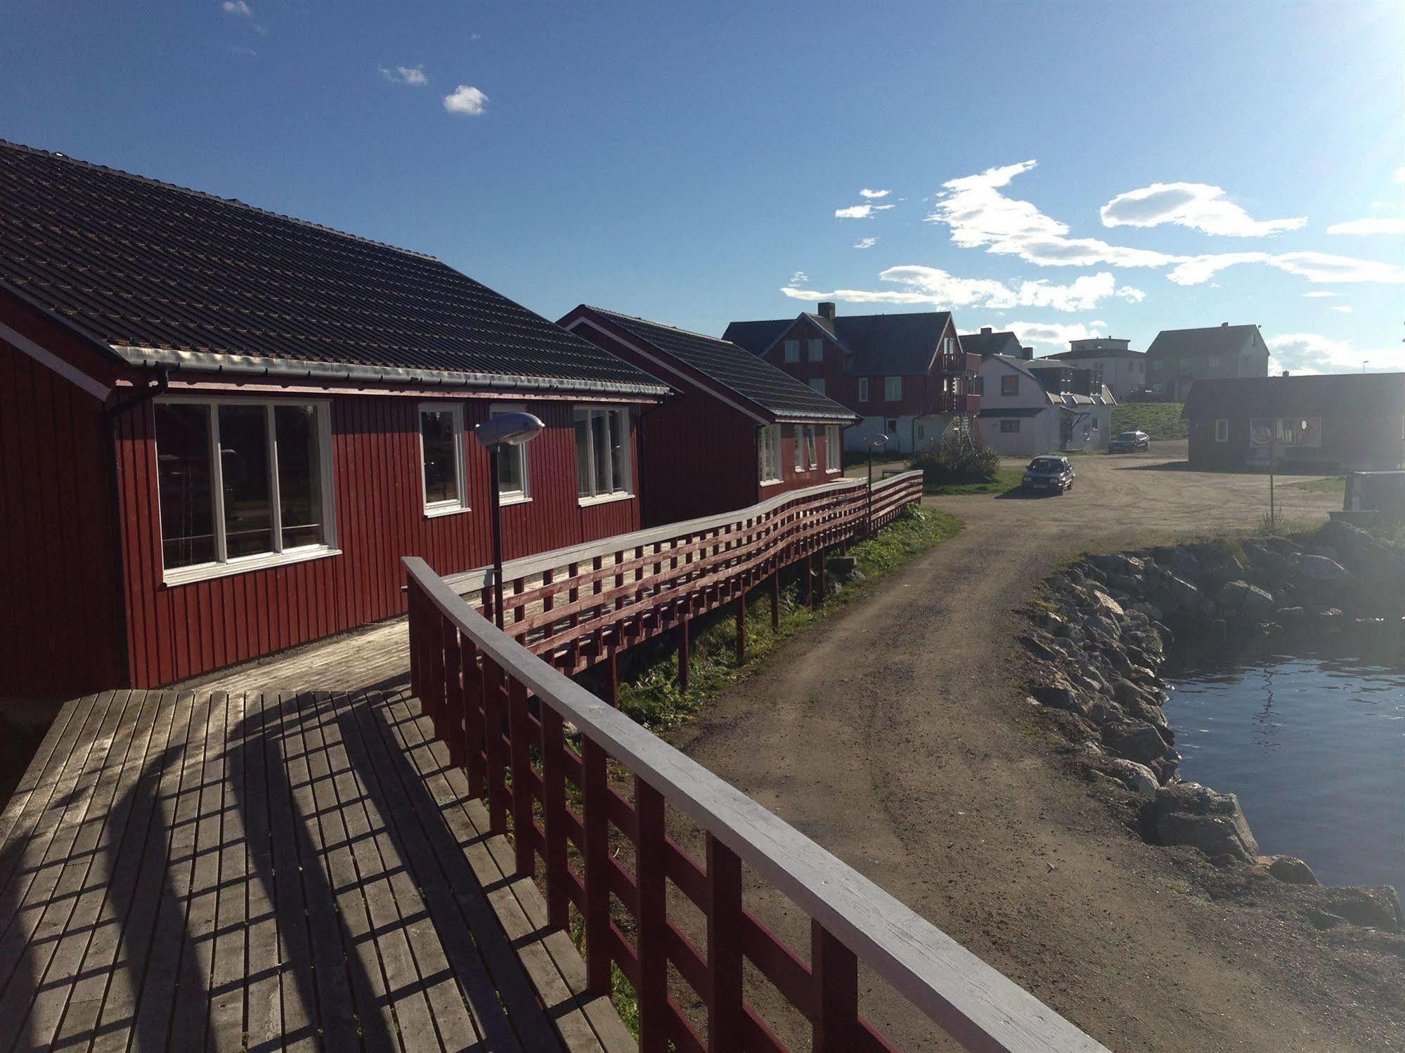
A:
POLYGON ((736 392, 777 417, 785 420, 858 420, 853 410, 844 409, 833 399, 821 395, 809 385, 801 383, 790 373, 781 372, 736 344, 601 307, 587 306, 586 310, 697 369, 718 385, 736 392))

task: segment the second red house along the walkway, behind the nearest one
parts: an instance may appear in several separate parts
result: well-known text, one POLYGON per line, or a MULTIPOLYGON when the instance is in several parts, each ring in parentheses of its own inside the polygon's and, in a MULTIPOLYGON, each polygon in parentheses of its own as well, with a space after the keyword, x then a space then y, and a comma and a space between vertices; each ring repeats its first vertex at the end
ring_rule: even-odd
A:
POLYGON ((736 344, 584 305, 559 324, 679 393, 639 418, 646 526, 839 476, 858 417, 736 344))

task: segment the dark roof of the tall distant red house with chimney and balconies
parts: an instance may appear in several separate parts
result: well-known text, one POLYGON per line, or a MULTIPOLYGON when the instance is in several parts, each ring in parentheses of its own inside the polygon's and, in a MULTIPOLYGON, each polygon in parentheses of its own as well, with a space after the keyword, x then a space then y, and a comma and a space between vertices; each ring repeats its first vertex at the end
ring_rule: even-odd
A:
MULTIPOLYGON (((823 323, 816 314, 812 322, 823 323)), ((926 373, 937 352, 941 333, 951 322, 951 312, 927 310, 909 314, 840 314, 823 326, 851 352, 849 373, 856 376, 898 376, 926 373)), ((771 322, 733 322, 722 334, 724 340, 740 344, 753 355, 760 355, 776 343, 795 319, 771 322)), ((962 337, 964 340, 964 337, 962 337)))

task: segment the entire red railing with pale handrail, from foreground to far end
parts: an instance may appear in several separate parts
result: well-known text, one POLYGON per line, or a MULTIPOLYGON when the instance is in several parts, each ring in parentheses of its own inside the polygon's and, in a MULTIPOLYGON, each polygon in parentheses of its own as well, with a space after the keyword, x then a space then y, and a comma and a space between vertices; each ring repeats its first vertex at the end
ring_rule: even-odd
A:
MULTIPOLYGON (((913 486, 902 479, 875 487, 892 501, 889 518, 906 503, 895 494, 913 486)), ((822 1053, 892 1049, 858 1015, 860 962, 969 1049, 1099 1050, 860 873, 538 657, 569 668, 575 661, 562 654, 584 639, 624 633, 649 607, 639 590, 688 609, 679 597, 729 581, 739 598, 740 583, 778 569, 785 555, 813 555, 844 529, 851 536, 863 525, 853 490, 837 484, 823 500, 776 498, 731 517, 731 526, 679 524, 687 529, 667 541, 632 535, 611 549, 614 564, 577 571, 562 597, 556 611, 569 608, 565 619, 577 619, 575 640, 549 633, 532 649, 520 640, 547 623, 528 626, 523 616, 504 633, 423 560, 406 559, 413 689, 451 762, 468 769, 471 792, 486 799, 492 830, 511 837, 517 873, 544 883, 549 924, 565 929, 572 908, 579 911, 590 991, 611 994, 611 965, 634 986, 643 1053, 669 1043, 684 1052, 783 1050, 747 998, 743 962, 808 1021, 812 1049, 822 1053), (642 563, 639 549, 648 549, 642 563), (645 577, 628 580, 642 570, 645 577), (597 587, 586 607, 570 598, 597 587), (620 612, 628 614, 610 618, 620 612), (608 761, 628 782, 611 785, 608 761), (701 831, 702 865, 670 837, 666 804, 701 831), (743 865, 811 920, 808 963, 743 906, 743 865), (680 918, 679 897, 701 924, 680 918), (697 1019, 670 997, 670 965, 704 1007, 697 1019)), ((867 505, 861 487, 858 496, 867 505)), ((542 604, 562 595, 534 592, 542 604)), ((525 601, 524 590, 509 604, 525 601)))

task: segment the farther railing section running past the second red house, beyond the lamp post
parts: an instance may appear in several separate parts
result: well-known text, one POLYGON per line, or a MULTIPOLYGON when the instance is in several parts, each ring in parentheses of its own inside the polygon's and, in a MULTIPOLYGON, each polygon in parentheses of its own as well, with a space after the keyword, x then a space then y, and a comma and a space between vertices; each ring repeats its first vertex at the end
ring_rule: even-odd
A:
MULTIPOLYGON (((813 605, 826 588, 825 553, 885 526, 919 500, 920 472, 875 483, 871 507, 863 480, 840 479, 722 515, 513 560, 503 567, 503 628, 568 674, 608 663, 608 694, 620 651, 676 632, 686 688, 694 618, 735 602, 743 647, 750 590, 769 588, 774 625, 780 574, 804 562, 804 598, 813 605)), ((448 584, 492 618, 490 567, 452 576, 448 584)))

